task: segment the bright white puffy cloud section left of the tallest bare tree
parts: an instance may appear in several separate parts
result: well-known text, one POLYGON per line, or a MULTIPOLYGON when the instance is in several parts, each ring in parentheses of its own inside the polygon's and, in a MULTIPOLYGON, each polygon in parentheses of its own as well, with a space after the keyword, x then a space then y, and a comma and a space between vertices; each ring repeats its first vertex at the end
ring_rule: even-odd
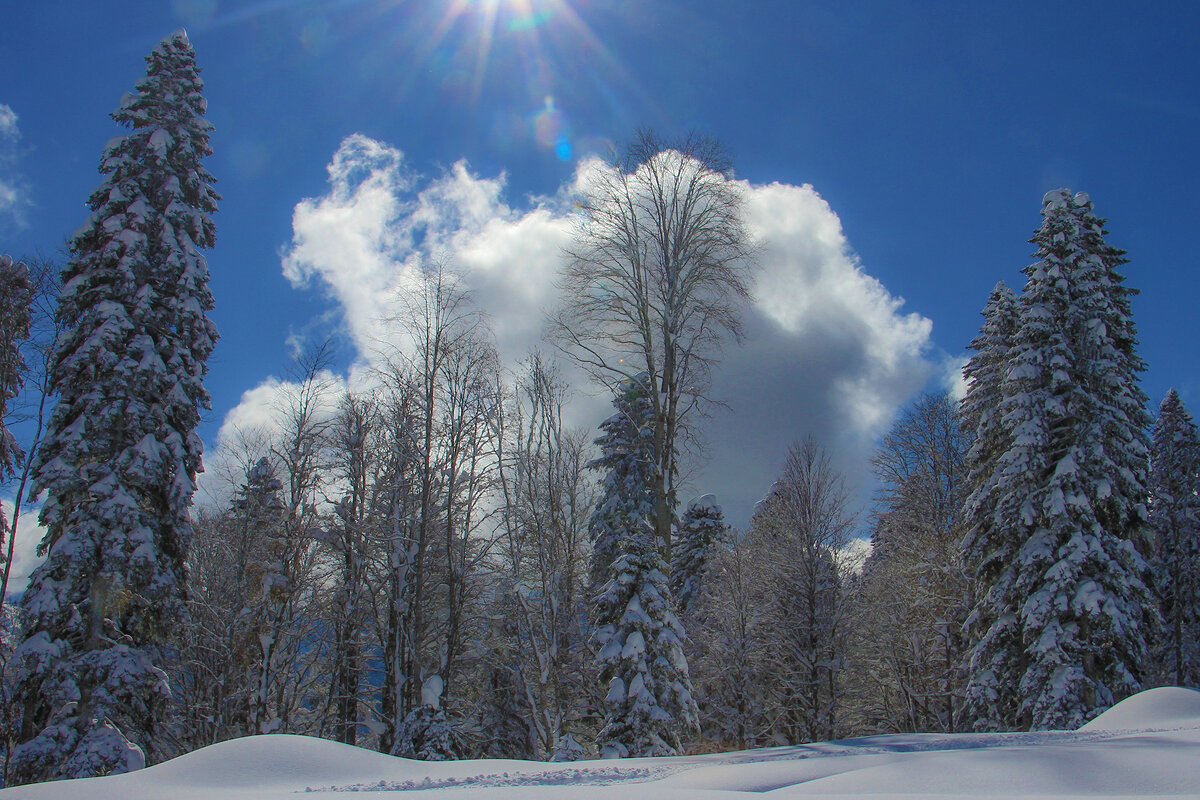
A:
POLYGON ((560 200, 516 211, 505 176, 481 178, 464 161, 416 188, 403 154, 364 136, 348 137, 329 164, 329 191, 299 203, 283 273, 296 287, 318 278, 342 309, 364 359, 395 343, 400 293, 422 267, 443 263, 492 319, 502 356, 515 361, 541 336, 539 308, 570 235, 560 200))

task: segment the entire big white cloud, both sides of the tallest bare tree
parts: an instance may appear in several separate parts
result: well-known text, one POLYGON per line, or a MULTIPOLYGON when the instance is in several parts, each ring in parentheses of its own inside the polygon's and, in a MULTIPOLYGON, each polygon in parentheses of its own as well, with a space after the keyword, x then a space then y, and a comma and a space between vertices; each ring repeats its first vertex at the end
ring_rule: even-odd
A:
MULTIPOLYGON (((388 341, 397 297, 422 264, 445 263, 488 314, 505 363, 539 344, 544 313, 558 301, 554 277, 574 227, 571 198, 593 162, 551 197, 516 207, 506 176, 480 176, 458 162, 421 180, 401 151, 347 138, 329 164, 325 194, 300 201, 284 275, 329 291, 360 355, 370 363, 388 341)), ((936 372, 926 357, 931 323, 871 277, 846 241, 838 215, 811 186, 744 184, 754 239, 754 301, 744 347, 730 345, 714 375, 728 405, 707 426, 697 493, 721 497, 744 524, 775 477, 790 444, 815 434, 847 473, 868 483, 875 439, 896 409, 936 372)), ((247 392, 230 420, 266 408, 270 383, 247 392)), ((607 399, 580 386, 570 416, 593 427, 607 399)))

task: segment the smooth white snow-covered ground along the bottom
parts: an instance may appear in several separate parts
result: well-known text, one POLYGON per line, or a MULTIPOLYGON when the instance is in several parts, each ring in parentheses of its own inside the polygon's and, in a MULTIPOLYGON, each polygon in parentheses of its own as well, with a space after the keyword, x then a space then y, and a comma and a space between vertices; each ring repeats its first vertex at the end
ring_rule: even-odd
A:
POLYGON ((306 736, 222 742, 140 772, 0 792, 2 800, 652 800, 1200 798, 1200 692, 1156 688, 1080 730, 899 734, 738 753, 430 764, 306 736))

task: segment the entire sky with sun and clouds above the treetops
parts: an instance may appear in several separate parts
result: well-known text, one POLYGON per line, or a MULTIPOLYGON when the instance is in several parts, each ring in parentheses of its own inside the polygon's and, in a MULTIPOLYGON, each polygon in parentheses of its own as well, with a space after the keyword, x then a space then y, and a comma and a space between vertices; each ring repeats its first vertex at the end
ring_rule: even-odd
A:
MULTIPOLYGON (((728 146, 766 242, 750 341, 716 381, 731 409, 694 482, 744 523, 806 432, 866 486, 890 415, 942 383, 996 281, 1020 288, 1058 186, 1087 191, 1129 251, 1152 404, 1174 385, 1200 407, 1198 17, 1189 2, 10 4, 0 251, 53 254, 84 222, 121 133, 108 113, 185 26, 224 197, 202 431, 216 453, 298 337, 340 332, 343 368, 370 361, 388 265, 434 245, 474 270, 515 359, 553 300, 562 192, 583 160, 637 126, 701 131, 728 146), (388 231, 413 233, 414 209, 420 241, 397 246, 388 231)), ((601 414, 581 399, 581 423, 601 414)))

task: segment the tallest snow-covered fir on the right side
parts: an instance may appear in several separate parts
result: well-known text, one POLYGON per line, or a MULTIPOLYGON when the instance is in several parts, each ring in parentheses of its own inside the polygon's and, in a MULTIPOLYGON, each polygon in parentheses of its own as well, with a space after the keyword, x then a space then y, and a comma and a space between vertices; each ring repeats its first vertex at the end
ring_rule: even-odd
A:
POLYGON ((1075 728, 1142 687, 1145 431, 1123 251, 1084 193, 1045 196, 1000 410, 1012 443, 966 537, 983 582, 964 720, 1075 728))

